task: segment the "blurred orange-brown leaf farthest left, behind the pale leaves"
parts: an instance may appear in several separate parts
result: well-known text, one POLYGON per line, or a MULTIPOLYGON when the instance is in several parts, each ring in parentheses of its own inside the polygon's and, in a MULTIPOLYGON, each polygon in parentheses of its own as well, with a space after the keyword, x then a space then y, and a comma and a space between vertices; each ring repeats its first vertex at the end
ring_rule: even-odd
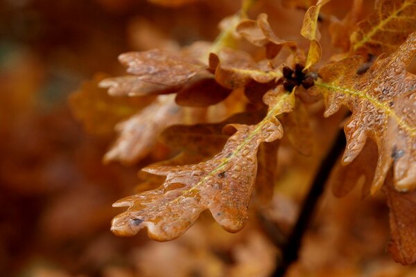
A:
POLYGON ((96 75, 69 97, 74 116, 93 134, 110 134, 116 123, 137 113, 148 102, 144 99, 108 96, 105 89, 98 88, 98 83, 105 78, 107 75, 96 75))

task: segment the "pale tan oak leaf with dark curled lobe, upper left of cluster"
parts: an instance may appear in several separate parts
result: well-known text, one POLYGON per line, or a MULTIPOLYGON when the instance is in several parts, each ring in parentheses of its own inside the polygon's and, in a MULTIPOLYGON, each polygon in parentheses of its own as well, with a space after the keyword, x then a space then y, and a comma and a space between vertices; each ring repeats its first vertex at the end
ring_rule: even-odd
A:
POLYGON ((200 62, 211 44, 195 42, 180 53, 174 54, 159 49, 124 53, 119 60, 128 66, 128 73, 100 82, 112 96, 146 96, 177 93, 178 105, 207 107, 224 100, 231 92, 221 87, 214 76, 205 71, 200 62))

